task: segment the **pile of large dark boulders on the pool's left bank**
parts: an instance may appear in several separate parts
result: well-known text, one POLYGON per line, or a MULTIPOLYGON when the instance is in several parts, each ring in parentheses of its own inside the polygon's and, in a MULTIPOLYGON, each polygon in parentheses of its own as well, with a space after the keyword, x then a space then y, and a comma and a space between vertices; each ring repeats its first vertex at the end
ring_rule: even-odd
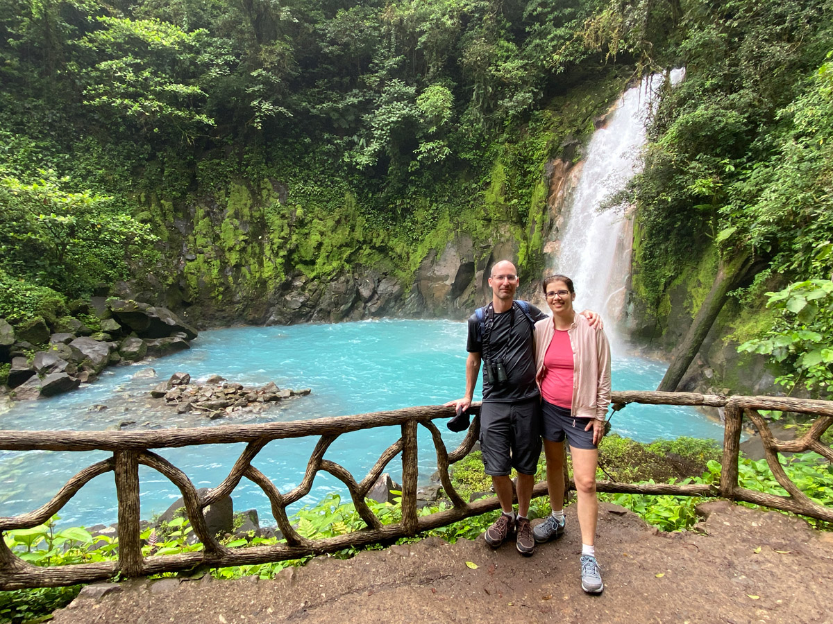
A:
POLYGON ((12 399, 38 399, 76 389, 112 364, 190 349, 197 330, 167 308, 93 297, 74 316, 36 317, 12 327, 0 319, 0 363, 9 364, 12 399), (95 321, 94 323, 92 321, 95 321))

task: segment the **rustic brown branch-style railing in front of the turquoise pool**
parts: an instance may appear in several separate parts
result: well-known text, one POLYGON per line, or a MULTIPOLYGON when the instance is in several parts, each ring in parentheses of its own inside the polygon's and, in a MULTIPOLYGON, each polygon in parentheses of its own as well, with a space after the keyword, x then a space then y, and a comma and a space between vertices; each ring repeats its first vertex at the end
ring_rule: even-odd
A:
MULTIPOLYGON (((723 408, 726 420, 724 433, 721 483, 711 485, 632 484, 600 481, 600 492, 678 494, 702 497, 724 497, 736 501, 756 503, 770 508, 799 513, 811 518, 833 521, 833 508, 826 508, 807 498, 795 483, 787 477, 778 453, 815 451, 833 462, 833 451, 821 443, 821 434, 833 423, 833 402, 786 399, 774 397, 714 396, 688 393, 615 392, 613 402, 666 405, 707 405, 723 408), (777 409, 816 414, 818 418, 800 439, 781 441, 773 438, 759 409, 777 409), (748 418, 761 433, 766 461, 778 483, 786 490, 786 497, 754 492, 738 485, 738 453, 743 419, 748 418)), ((471 412, 479 414, 475 404, 471 412)), ((442 442, 440 431, 432 422, 435 418, 448 418, 452 409, 432 406, 400 409, 376 414, 319 418, 292 423, 267 423, 247 425, 223 425, 211 428, 168 429, 146 432, 68 432, 68 431, 0 431, 0 450, 52 450, 52 451, 111 451, 112 457, 84 468, 41 508, 13 518, 0 518, 0 534, 14 529, 36 527, 46 522, 63 507, 82 486, 92 478, 112 471, 115 474, 118 499, 118 560, 114 562, 79 563, 57 567, 35 567, 15 556, 0 539, 0 590, 25 587, 57 587, 82 582, 107 579, 121 574, 139 577, 160 572, 187 570, 197 565, 210 567, 251 565, 294 559, 310 554, 334 552, 348 546, 360 547, 373 542, 389 542, 398 537, 413 536, 431 528, 441 527, 462 518, 478 515, 499 507, 495 497, 466 503, 451 483, 449 467, 471 451, 478 433, 479 418, 474 418, 460 446, 449 453, 442 442), (327 448, 342 433, 360 429, 398 426, 401 437, 382 453, 367 476, 357 481, 346 468, 324 456, 327 448), (417 439, 418 427, 431 432, 436 450, 436 465, 442 487, 451 501, 451 508, 418 516, 416 512, 417 490, 417 439), (252 466, 257 453, 272 440, 320 436, 302 483, 290 492, 281 493, 270 476, 252 466), (153 448, 184 447, 201 444, 247 443, 228 476, 200 498, 197 489, 185 473, 169 463, 153 448), (402 521, 383 525, 367 506, 365 496, 382 471, 397 455, 402 455, 402 521), (187 518, 193 531, 203 544, 202 552, 177 555, 142 556, 139 530, 139 478, 138 466, 143 464, 157 470, 170 479, 182 492, 187 518), (311 540, 302 537, 292 527, 287 516, 287 506, 307 495, 318 471, 325 471, 347 486, 357 513, 367 524, 367 529, 338 537, 311 540), (228 548, 208 532, 202 510, 232 493, 237 483, 245 477, 256 483, 266 493, 272 504, 272 515, 283 532, 286 543, 272 546, 228 548)), ((617 418, 626 418, 626 413, 617 418)), ((272 475, 276 477, 277 475, 272 475)), ((534 496, 546 493, 546 483, 538 483, 534 496)))

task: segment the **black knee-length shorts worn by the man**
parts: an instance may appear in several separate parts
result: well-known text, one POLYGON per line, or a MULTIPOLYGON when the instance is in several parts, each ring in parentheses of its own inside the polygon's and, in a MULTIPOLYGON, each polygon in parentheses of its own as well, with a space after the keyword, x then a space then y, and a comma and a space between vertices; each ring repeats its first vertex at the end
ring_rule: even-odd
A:
POLYGON ((500 477, 511 468, 535 474, 541 455, 541 399, 483 403, 480 449, 486 474, 500 477))

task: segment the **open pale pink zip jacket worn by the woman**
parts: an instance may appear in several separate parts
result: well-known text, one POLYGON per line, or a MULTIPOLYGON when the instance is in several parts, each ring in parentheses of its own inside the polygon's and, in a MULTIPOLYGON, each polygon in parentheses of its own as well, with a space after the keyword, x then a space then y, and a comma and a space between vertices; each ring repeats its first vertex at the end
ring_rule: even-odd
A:
MULTIPOLYGON (((544 355, 555 335, 551 318, 535 324, 536 382, 544 379, 544 355)), ((611 403, 611 346, 603 329, 592 329, 581 314, 576 314, 570 329, 573 351, 573 418, 604 420, 611 403)))

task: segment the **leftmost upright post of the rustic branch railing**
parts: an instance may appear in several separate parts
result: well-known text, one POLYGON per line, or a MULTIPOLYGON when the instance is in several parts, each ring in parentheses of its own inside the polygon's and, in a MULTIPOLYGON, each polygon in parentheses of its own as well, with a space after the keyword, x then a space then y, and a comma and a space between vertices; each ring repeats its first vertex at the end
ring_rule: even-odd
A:
POLYGON ((116 497, 118 499, 118 563, 127 577, 142 576, 142 539, 139 537, 139 455, 116 451, 116 497))

